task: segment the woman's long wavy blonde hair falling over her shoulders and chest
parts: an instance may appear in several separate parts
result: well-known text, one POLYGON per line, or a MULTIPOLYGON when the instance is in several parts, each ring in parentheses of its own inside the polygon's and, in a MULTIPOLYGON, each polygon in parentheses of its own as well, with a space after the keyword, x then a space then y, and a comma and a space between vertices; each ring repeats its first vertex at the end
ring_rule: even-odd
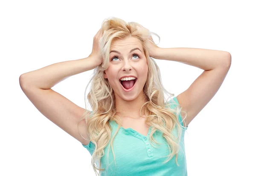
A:
MULTIPOLYGON (((119 113, 116 112, 115 109, 115 95, 113 89, 110 86, 108 79, 104 79, 103 73, 108 68, 110 62, 109 52, 111 43, 116 39, 125 39, 126 37, 135 37, 141 41, 145 56, 148 61, 148 76, 143 88, 145 94, 145 103, 140 108, 140 114, 143 106, 145 106, 145 123, 152 127, 150 133, 150 142, 159 144, 154 139, 153 134, 156 131, 163 132, 163 138, 166 139, 170 152, 170 154, 168 155, 169 158, 164 163, 172 159, 175 154, 177 163, 179 142, 182 128, 184 128, 180 125, 177 118, 177 115, 181 112, 181 108, 178 104, 175 104, 177 105, 176 109, 166 107, 166 105, 169 107, 170 104, 165 104, 164 92, 166 94, 170 94, 169 97, 174 96, 174 94, 169 93, 163 87, 160 69, 157 66, 156 62, 151 57, 149 57, 148 48, 145 45, 146 41, 149 39, 149 37, 151 37, 151 34, 149 31, 142 30, 140 26, 141 25, 138 23, 126 23, 124 20, 116 17, 107 18, 102 22, 102 31, 105 32, 102 38, 99 40, 99 45, 101 49, 101 54, 103 56, 103 62, 101 65, 94 69, 93 77, 88 83, 89 85, 90 82, 92 82, 90 92, 87 94, 87 99, 90 103, 93 113, 86 114, 85 112, 81 118, 81 120, 85 120, 87 124, 87 140, 90 140, 95 145, 95 150, 92 154, 91 164, 93 165, 93 170, 96 174, 98 174, 96 170, 105 170, 101 169, 100 159, 102 158, 102 156, 104 156, 104 148, 109 144, 109 142, 111 142, 111 149, 113 152, 113 157, 115 159, 113 151, 113 139, 116 136, 117 132, 111 139, 111 126, 109 122, 111 120, 115 120, 119 126, 119 130, 119 128, 121 127, 121 119, 119 113), (176 127, 177 137, 172 135, 172 131, 176 127), (95 165, 95 163, 99 163, 99 168, 95 165)), ((85 92, 87 90, 87 87, 85 89, 85 92)))

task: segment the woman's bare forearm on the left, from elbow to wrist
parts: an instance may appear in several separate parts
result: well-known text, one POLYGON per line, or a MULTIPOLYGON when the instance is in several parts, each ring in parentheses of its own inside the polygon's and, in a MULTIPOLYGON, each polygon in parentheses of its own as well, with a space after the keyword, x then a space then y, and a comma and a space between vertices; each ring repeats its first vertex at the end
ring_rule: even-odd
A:
POLYGON ((99 64, 89 56, 79 60, 54 63, 20 76, 23 88, 49 89, 70 76, 96 68, 99 64))

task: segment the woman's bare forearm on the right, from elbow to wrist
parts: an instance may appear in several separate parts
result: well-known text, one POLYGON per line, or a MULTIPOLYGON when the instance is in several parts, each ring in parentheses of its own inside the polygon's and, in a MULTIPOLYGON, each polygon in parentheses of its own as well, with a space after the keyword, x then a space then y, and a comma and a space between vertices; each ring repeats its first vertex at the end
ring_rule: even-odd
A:
POLYGON ((157 48, 154 58, 177 61, 203 70, 229 67, 231 62, 230 53, 227 51, 201 48, 157 48))

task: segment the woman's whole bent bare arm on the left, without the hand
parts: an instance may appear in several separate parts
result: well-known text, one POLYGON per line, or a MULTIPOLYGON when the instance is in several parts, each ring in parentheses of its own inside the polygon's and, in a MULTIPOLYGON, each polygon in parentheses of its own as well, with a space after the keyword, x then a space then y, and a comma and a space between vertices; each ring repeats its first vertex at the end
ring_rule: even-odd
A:
POLYGON ((75 74, 96 68, 100 62, 93 56, 84 59, 59 62, 20 75, 20 87, 35 107, 50 121, 69 133, 82 144, 87 145, 86 122, 79 122, 88 110, 79 107, 51 88, 58 82, 75 74), (79 122, 79 131, 77 124, 79 122))

